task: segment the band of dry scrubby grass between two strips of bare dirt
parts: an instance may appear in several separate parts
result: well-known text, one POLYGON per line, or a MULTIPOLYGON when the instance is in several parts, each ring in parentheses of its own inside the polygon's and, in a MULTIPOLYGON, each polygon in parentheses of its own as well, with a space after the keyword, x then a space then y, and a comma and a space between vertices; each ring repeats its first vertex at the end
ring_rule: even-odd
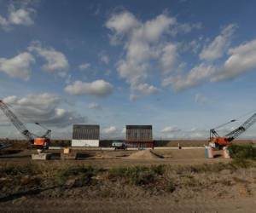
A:
MULTIPOLYGON (((229 164, 155 165, 119 167, 102 170, 84 164, 2 164, 0 166, 0 197, 39 190, 45 197, 110 197, 133 198, 173 193, 188 198, 213 187, 221 193, 225 187, 243 184, 251 192, 255 187, 253 161, 229 164), (246 162, 246 163, 245 163, 246 162), (241 172, 242 171, 242 172, 241 172), (254 185, 253 185, 254 184, 254 185), (83 195, 81 195, 83 193, 83 195)), ((234 189, 235 190, 235 189, 234 189)))

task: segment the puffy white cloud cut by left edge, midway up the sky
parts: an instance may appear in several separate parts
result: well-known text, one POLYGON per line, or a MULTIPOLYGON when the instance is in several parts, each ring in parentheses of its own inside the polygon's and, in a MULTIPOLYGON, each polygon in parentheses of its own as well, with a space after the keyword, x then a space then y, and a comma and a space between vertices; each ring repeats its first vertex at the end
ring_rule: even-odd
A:
POLYGON ((30 78, 33 63, 35 63, 33 56, 27 52, 10 59, 0 58, 0 72, 12 78, 22 78, 27 81, 30 78))

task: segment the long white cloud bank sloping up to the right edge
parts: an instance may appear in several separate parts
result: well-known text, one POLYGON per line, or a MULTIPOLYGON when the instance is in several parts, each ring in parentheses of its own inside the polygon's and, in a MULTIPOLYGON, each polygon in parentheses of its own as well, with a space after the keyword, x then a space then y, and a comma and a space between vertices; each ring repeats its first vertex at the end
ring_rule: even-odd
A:
POLYGON ((189 89, 207 82, 234 79, 256 67, 256 39, 228 50, 228 58, 218 66, 201 62, 189 72, 171 75, 163 85, 172 85, 175 90, 189 89))

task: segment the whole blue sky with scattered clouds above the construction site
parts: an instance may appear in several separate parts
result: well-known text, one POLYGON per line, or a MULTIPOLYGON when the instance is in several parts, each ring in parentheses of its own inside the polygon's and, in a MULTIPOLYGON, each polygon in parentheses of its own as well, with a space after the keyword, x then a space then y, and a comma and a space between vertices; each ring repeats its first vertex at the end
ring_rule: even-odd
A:
MULTIPOLYGON (((26 124, 152 124, 156 139, 225 135, 256 110, 255 1, 0 0, 0 98, 26 124)), ((241 138, 254 138, 256 125, 241 138)), ((0 137, 20 138, 0 112, 0 137)))

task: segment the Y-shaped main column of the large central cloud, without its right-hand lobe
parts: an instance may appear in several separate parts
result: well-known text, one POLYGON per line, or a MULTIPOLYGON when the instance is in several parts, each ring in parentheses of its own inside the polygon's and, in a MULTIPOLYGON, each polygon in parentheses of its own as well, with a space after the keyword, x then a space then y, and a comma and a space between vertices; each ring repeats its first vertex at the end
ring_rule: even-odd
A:
POLYGON ((129 12, 113 14, 107 21, 106 26, 113 31, 113 37, 125 37, 126 56, 119 60, 117 70, 120 77, 125 78, 131 87, 136 87, 137 83, 143 83, 148 78, 149 60, 159 55, 160 37, 169 31, 173 23, 175 19, 166 14, 142 23, 129 12), (130 20, 129 25, 123 26, 127 17, 130 20))

